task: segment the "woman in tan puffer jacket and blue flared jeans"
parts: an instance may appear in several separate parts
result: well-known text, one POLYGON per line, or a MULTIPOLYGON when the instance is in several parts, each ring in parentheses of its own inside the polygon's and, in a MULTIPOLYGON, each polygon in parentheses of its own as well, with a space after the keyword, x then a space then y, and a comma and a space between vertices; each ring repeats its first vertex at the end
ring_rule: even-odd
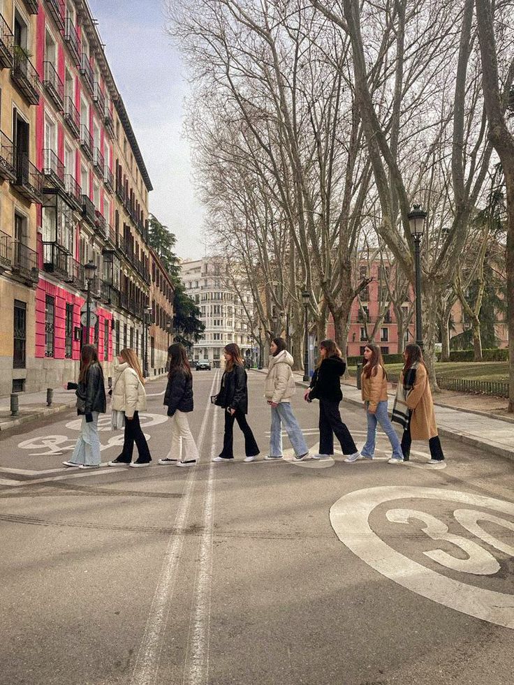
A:
POLYGON ((364 348, 365 365, 362 367, 362 402, 367 417, 367 440, 360 450, 360 457, 346 457, 345 462, 357 459, 373 459, 376 443, 376 425, 379 423, 388 436, 392 447, 392 464, 403 462, 404 455, 398 436, 388 416, 388 377, 383 367, 382 353, 378 345, 367 343, 364 348))

